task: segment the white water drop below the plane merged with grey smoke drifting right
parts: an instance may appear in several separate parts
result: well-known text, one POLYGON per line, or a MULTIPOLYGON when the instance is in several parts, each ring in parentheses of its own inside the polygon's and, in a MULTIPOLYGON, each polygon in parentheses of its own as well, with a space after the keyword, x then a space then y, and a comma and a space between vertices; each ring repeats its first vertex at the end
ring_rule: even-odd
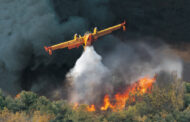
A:
MULTIPOLYGON (((70 101, 100 103, 106 93, 112 94, 118 87, 126 87, 144 76, 169 76, 175 72, 181 78, 181 60, 166 54, 165 49, 168 47, 163 45, 154 48, 140 42, 120 43, 102 60, 93 47, 87 47, 67 74, 68 82, 72 82, 70 101)), ((169 77, 161 79, 165 84, 170 81, 169 77)))

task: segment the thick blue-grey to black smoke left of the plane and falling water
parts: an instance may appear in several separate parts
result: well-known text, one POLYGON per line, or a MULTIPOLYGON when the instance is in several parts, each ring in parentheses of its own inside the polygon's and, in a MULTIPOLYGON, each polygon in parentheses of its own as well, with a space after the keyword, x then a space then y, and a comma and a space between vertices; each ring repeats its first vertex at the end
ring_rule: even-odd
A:
POLYGON ((60 65, 72 65, 72 61, 66 61, 71 56, 57 63, 55 57, 47 57, 43 47, 79 30, 83 32, 87 27, 86 20, 69 16, 68 21, 60 24, 48 0, 0 0, 0 15, 1 88, 12 94, 21 89, 38 91, 44 87, 36 84, 53 81, 56 84, 59 77, 64 79, 63 75, 56 79, 56 74, 47 71, 57 71, 52 65, 57 69, 60 65))

